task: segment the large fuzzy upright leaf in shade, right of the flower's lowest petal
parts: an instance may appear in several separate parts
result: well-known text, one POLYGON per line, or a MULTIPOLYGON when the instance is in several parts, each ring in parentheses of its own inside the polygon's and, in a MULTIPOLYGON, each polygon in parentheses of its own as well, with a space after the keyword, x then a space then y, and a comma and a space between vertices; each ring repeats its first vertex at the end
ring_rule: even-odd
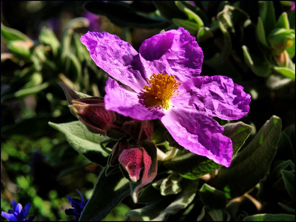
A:
POLYGON ((228 187, 232 197, 241 196, 264 178, 276 154, 282 121, 272 116, 253 140, 233 159, 229 168, 221 168, 213 186, 228 187))

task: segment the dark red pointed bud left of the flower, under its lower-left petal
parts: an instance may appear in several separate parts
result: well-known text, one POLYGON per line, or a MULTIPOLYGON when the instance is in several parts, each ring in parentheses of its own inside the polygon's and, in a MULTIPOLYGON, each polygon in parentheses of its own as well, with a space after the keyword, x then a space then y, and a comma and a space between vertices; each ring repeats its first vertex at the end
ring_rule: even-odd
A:
POLYGON ((116 120, 115 113, 105 109, 104 98, 101 97, 72 100, 69 107, 92 133, 106 136, 106 131, 112 128, 116 120))

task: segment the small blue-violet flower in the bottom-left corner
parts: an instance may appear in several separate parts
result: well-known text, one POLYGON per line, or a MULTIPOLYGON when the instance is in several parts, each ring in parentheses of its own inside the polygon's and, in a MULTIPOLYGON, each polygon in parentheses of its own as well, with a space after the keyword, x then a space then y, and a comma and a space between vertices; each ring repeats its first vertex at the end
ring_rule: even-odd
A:
POLYGON ((28 203, 24 208, 23 206, 17 202, 15 202, 14 199, 12 199, 12 210, 8 210, 7 213, 1 212, 1 216, 5 217, 9 221, 33 221, 35 216, 29 216, 28 219, 26 217, 28 216, 29 210, 31 208, 32 204, 28 203))

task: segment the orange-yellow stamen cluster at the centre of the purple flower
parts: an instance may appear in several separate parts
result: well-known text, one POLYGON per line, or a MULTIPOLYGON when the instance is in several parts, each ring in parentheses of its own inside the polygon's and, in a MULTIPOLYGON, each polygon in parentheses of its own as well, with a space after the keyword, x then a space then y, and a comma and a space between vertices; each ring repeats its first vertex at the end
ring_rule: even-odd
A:
POLYGON ((168 109, 171 98, 176 98, 179 93, 178 86, 181 85, 174 76, 168 74, 155 73, 150 76, 149 83, 144 86, 147 92, 147 103, 150 106, 161 106, 168 109))

